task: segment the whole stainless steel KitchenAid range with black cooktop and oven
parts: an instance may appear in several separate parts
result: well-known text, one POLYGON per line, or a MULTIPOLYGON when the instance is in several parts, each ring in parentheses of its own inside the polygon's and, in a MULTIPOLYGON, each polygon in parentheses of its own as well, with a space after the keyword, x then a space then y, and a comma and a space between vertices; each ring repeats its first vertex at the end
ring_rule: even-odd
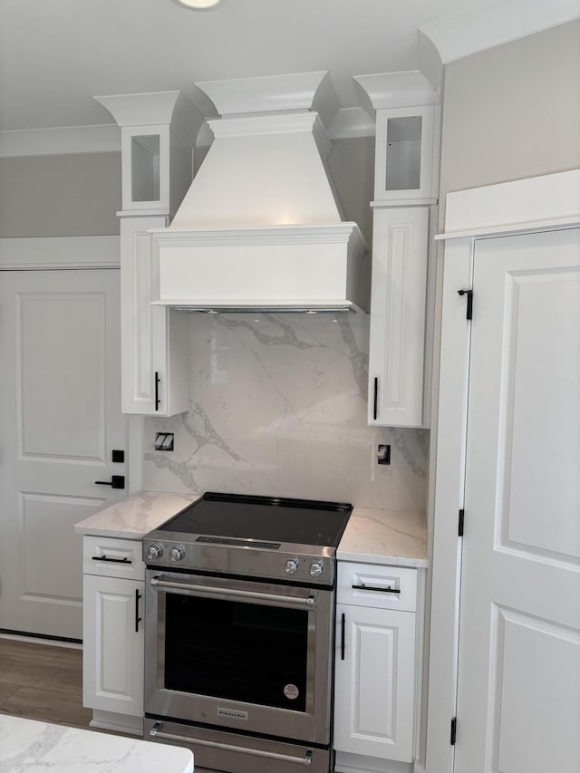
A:
POLYGON ((207 493, 143 541, 145 737, 327 773, 335 551, 352 506, 207 493))

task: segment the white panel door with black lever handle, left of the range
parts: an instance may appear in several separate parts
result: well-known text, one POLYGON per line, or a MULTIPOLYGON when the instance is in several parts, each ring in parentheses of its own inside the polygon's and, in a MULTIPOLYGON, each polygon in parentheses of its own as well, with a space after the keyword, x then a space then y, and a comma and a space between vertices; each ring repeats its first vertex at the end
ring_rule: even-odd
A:
POLYGON ((126 490, 117 270, 0 273, 0 628, 82 638, 73 526, 126 490))

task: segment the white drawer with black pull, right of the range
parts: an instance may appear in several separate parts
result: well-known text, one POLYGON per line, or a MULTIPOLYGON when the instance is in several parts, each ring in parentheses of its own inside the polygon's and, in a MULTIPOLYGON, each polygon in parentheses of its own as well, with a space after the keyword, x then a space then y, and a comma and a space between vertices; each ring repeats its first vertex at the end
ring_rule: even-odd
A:
POLYGON ((417 570, 339 561, 336 601, 338 604, 415 612, 417 570))

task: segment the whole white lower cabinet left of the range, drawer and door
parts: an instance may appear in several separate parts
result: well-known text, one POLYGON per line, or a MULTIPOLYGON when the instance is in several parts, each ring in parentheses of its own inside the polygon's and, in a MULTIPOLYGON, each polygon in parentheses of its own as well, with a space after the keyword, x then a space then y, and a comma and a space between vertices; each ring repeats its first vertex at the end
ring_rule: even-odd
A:
POLYGON ((144 565, 138 540, 84 537, 82 704, 93 727, 140 733, 144 565))

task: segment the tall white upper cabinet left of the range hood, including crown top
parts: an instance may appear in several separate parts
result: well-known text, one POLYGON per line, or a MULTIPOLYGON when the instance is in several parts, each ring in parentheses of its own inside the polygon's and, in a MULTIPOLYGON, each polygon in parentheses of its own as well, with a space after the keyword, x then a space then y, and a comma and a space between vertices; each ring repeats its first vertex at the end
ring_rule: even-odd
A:
POLYGON ((179 92, 96 97, 121 126, 122 411, 172 416, 189 409, 189 318, 155 305, 165 228, 192 178, 202 116, 179 92))

